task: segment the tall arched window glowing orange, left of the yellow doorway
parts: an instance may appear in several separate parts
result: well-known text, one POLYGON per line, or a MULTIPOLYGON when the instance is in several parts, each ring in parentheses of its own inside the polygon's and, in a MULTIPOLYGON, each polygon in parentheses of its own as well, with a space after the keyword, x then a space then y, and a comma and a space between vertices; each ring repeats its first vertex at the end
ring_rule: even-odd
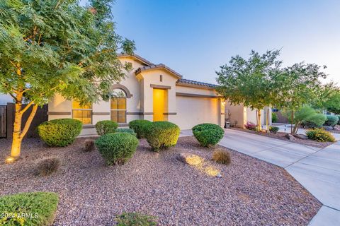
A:
POLYGON ((111 98, 111 120, 126 123, 126 93, 123 90, 113 90, 115 97, 111 98))

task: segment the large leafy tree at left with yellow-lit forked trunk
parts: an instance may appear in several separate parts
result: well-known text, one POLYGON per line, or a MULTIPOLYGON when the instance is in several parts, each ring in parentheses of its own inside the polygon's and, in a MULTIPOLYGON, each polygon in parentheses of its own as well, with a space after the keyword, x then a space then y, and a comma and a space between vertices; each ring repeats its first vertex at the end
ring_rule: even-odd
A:
POLYGON ((0 0, 0 93, 15 101, 11 158, 35 116, 55 94, 81 103, 108 100, 110 85, 124 78, 117 52, 134 42, 115 33, 111 0, 0 0), (26 107, 23 104, 26 103, 26 107), (22 129, 22 116, 32 111, 22 129))

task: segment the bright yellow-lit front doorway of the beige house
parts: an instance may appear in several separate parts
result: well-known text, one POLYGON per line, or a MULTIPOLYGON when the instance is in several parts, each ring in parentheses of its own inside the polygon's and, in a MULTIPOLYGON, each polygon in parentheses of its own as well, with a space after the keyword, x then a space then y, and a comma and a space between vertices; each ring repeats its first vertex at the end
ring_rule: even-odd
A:
POLYGON ((166 121, 164 112, 168 106, 168 90, 154 88, 154 121, 166 121))

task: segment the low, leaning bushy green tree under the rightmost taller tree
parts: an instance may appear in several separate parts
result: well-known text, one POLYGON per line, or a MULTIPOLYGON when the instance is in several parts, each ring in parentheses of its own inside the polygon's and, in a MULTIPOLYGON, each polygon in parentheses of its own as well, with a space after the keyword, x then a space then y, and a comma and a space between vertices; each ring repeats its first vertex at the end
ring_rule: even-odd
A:
POLYGON ((300 107, 300 109, 297 109, 297 111, 293 115, 293 120, 291 118, 290 112, 290 109, 283 110, 283 114, 285 115, 285 117, 288 117, 288 119, 290 121, 293 121, 293 123, 295 124, 292 131, 292 133, 294 134, 297 133, 300 125, 304 121, 309 121, 316 126, 322 126, 327 120, 326 115, 317 113, 312 107, 300 107))

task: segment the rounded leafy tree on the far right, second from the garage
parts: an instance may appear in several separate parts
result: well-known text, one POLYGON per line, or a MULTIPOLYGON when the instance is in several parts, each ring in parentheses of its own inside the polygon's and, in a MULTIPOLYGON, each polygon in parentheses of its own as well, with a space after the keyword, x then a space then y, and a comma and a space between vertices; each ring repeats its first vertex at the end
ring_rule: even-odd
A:
MULTIPOLYGON (((327 77, 320 69, 321 66, 317 64, 302 62, 288 66, 276 75, 276 107, 285 109, 286 114, 290 112, 290 119, 295 118, 295 112, 302 106, 310 105, 312 100, 317 99, 321 88, 320 79, 327 77)), ((292 126, 291 132, 296 133, 297 130, 292 126)))

